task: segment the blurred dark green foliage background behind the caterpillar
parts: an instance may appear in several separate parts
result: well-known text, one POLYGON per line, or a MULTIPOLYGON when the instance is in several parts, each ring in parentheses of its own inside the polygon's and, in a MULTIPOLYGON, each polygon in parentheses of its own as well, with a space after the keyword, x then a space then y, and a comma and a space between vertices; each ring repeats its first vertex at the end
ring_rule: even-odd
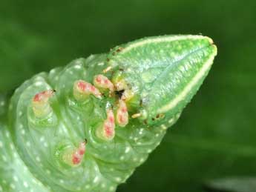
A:
POLYGON ((144 36, 203 34, 218 56, 206 82, 125 191, 204 191, 256 176, 256 1, 0 1, 0 92, 35 73, 144 36))

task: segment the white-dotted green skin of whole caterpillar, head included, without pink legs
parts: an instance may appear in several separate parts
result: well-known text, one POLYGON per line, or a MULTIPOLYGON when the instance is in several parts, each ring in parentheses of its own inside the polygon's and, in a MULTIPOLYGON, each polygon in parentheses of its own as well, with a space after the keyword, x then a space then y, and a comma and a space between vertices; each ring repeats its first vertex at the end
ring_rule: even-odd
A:
POLYGON ((203 36, 159 36, 115 47, 108 54, 76 59, 67 67, 39 73, 14 93, 8 121, 0 124, 0 191, 116 191, 160 145, 167 128, 205 79, 217 48, 203 36), (93 82, 93 76, 116 73, 134 91, 128 104, 128 125, 116 125, 113 140, 95 132, 106 118, 105 108, 116 106, 117 96, 84 102, 73 98, 73 82, 93 82), (31 99, 55 89, 53 113, 46 119, 33 116, 31 99), (131 114, 143 113, 138 119, 131 114), (70 167, 56 156, 63 146, 88 140, 81 165, 70 167))

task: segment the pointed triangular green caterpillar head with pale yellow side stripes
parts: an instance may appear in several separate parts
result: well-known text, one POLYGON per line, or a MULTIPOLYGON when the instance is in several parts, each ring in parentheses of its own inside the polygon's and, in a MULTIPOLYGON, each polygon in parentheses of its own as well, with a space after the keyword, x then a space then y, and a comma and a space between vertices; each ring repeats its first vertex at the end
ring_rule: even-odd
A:
POLYGON ((148 38, 108 54, 114 85, 134 115, 148 125, 174 122, 203 83, 217 48, 203 36, 148 38))

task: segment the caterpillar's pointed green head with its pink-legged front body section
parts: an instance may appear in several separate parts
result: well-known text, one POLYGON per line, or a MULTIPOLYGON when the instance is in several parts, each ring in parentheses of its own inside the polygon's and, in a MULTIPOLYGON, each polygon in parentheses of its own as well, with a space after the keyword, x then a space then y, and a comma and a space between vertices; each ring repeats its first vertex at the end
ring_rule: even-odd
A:
POLYGON ((115 191, 177 121, 216 53, 208 37, 160 36, 39 73, 10 103, 19 155, 53 191, 115 191))

